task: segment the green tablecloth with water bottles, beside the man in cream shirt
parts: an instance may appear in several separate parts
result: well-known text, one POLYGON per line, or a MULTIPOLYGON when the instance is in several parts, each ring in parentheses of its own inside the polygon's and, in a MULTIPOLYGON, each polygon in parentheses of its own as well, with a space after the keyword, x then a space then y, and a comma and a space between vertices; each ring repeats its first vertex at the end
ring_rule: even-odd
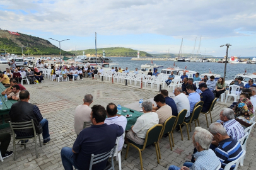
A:
POLYGON ((135 124, 137 118, 143 114, 143 112, 136 111, 136 110, 133 110, 134 113, 132 113, 130 110, 132 110, 132 109, 122 107, 122 112, 120 114, 120 115, 123 115, 123 116, 125 116, 127 114, 132 115, 129 118, 127 118, 127 125, 126 125, 126 128, 125 128, 125 131, 130 130, 131 126, 135 124), (127 110, 127 112, 124 112, 123 110, 127 110))

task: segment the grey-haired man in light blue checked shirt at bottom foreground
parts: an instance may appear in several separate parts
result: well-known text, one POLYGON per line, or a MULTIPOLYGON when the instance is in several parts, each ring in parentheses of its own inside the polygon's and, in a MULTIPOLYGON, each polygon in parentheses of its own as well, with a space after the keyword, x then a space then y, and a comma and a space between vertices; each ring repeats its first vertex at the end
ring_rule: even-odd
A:
POLYGON ((194 154, 195 162, 185 162, 181 168, 177 166, 170 166, 168 170, 217 169, 220 163, 219 158, 216 156, 214 151, 209 149, 213 135, 204 128, 195 127, 192 139, 194 147, 198 150, 198 152, 194 154))

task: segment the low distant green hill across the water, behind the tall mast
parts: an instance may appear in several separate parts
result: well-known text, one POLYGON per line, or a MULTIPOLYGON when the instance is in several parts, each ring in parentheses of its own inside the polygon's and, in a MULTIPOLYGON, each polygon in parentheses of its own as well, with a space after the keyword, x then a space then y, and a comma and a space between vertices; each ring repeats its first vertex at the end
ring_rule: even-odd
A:
MULTIPOLYGON (((124 48, 124 47, 111 47, 111 48, 97 48, 97 57, 102 57, 103 51, 105 50, 105 57, 136 57, 137 50, 133 50, 131 48, 124 48)), ((88 50, 77 50, 77 51, 70 51, 76 55, 87 55, 87 57, 95 57, 95 49, 88 49, 88 50)), ((140 51, 139 56, 141 57, 152 57, 151 54, 147 52, 140 51)))

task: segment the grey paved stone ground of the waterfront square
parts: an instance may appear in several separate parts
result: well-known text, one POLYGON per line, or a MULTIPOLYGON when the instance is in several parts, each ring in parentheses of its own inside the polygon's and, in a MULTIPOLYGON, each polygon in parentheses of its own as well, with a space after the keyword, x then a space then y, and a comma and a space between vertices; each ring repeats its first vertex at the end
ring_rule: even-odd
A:
MULTIPOLYGON (((1 65, 1 70, 4 66, 1 65)), ((112 84, 108 81, 84 79, 83 81, 73 82, 52 82, 45 79, 43 84, 24 85, 30 91, 30 102, 37 105, 44 118, 49 120, 50 143, 38 147, 38 159, 35 157, 35 144, 27 144, 26 149, 16 146, 17 160, 13 161, 13 156, 0 162, 0 169, 64 169, 61 162, 62 147, 72 147, 76 134, 73 127, 73 112, 76 106, 83 103, 84 94, 92 94, 94 96, 92 105, 107 106, 108 103, 127 105, 138 101, 138 99, 153 98, 158 91, 155 89, 139 89, 138 86, 124 86, 124 84, 112 84)), ((212 119, 215 122, 219 119, 219 112, 226 105, 217 103, 212 113, 212 119)), ((208 117, 209 118, 209 117, 208 117)), ((206 118, 201 115, 200 125, 207 129, 206 118)), ((193 134, 194 124, 192 124, 192 132, 189 132, 190 139, 193 134)), ((2 132, 11 133, 10 128, 0 130, 2 132)), ((187 139, 187 130, 183 128, 183 141, 180 132, 174 132, 175 147, 170 150, 168 138, 160 140, 161 159, 160 164, 157 163, 156 151, 154 147, 145 149, 142 152, 144 169, 168 169, 172 164, 182 166, 183 162, 189 161, 191 158, 192 139, 187 139)), ((247 154, 244 166, 239 169, 253 169, 255 163, 255 140, 256 135, 254 129, 251 133, 250 140, 247 142, 247 154)), ((32 142, 32 140, 30 141, 32 142)), ((13 150, 13 140, 8 150, 13 150)), ((130 147, 127 160, 124 160, 126 149, 122 151, 122 169, 140 169, 139 153, 133 147, 130 147)), ((117 161, 115 161, 115 169, 119 169, 117 161)))

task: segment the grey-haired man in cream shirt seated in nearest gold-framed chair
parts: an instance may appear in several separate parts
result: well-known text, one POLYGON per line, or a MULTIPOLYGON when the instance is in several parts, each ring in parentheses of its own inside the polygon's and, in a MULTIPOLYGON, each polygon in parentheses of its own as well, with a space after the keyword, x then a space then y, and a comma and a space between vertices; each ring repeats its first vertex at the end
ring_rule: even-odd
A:
POLYGON ((128 144, 128 140, 132 140, 138 145, 143 145, 145 142, 146 133, 149 128, 159 123, 158 114, 152 112, 152 103, 151 101, 144 101, 143 106, 143 115, 137 118, 137 121, 132 125, 131 130, 125 135, 125 143, 128 144))

